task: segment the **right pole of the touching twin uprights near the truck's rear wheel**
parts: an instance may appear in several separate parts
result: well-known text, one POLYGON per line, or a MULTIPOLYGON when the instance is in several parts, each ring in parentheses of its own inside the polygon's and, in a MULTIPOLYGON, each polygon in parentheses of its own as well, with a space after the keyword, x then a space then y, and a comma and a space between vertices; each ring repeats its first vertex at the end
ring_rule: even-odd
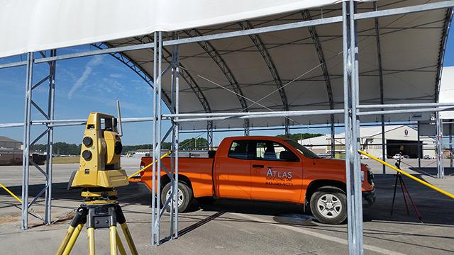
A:
MULTIPOLYGON (((157 191, 157 219, 156 219, 156 224, 158 226, 158 229, 160 229, 161 225, 161 217, 160 217, 160 211, 161 211, 161 126, 162 126, 162 32, 159 31, 159 40, 158 40, 158 47, 159 47, 159 55, 158 55, 158 76, 157 76, 157 84, 155 86, 157 87, 157 133, 156 133, 156 159, 157 159, 157 164, 156 164, 156 191, 157 191)), ((156 233, 157 237, 157 245, 160 244, 160 232, 158 231, 156 233)))

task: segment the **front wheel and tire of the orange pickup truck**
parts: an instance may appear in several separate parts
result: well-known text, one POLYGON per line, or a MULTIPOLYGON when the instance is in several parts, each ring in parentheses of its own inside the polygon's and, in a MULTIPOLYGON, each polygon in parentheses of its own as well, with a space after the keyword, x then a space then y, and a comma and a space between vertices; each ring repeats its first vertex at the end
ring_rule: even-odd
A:
POLYGON ((347 196, 340 188, 321 187, 311 197, 311 211, 319 222, 340 224, 347 218, 347 196))

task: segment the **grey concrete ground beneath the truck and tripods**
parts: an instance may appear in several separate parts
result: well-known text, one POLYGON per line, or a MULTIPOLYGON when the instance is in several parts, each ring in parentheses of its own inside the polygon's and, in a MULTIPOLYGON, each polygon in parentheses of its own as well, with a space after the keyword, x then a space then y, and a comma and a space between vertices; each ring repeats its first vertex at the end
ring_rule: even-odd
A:
MULTIPOLYGON (((138 170, 140 159, 123 159, 128 174, 138 170)), ((406 196, 406 212, 400 186, 397 186, 391 215, 395 171, 372 159, 363 160, 375 173, 377 201, 363 210, 365 254, 454 254, 454 200, 404 176, 419 214, 406 196)), ((388 159, 394 164, 394 159, 388 159)), ((418 166, 417 159, 404 163, 418 166)), ((0 253, 55 254, 82 199, 79 190, 67 191, 67 181, 77 164, 55 164, 52 180, 52 225, 30 211, 28 225, 22 230, 21 203, 0 188, 0 253)), ((428 181, 433 186, 454 194, 453 169, 445 169, 446 179, 436 179, 435 159, 421 159, 421 171, 402 165, 404 171, 428 181)), ((445 159, 445 166, 449 166, 445 159)), ((0 183, 16 195, 21 194, 21 166, 0 166, 0 183)), ((44 177, 31 166, 30 196, 43 188, 44 177)), ((151 196, 138 193, 134 183, 118 188, 118 201, 128 220, 139 254, 348 254, 347 224, 325 225, 311 215, 304 215, 302 206, 249 200, 220 199, 211 205, 194 202, 189 212, 179 214, 179 238, 167 241, 170 217, 165 212, 161 220, 162 244, 151 242, 151 196)), ((19 197, 20 198, 20 197, 19 197)), ((32 205, 43 215, 43 199, 32 205)), ((123 238, 123 234, 121 234, 123 238)), ((97 254, 109 254, 109 231, 95 232, 97 254)), ((124 239, 123 239, 124 240, 124 239)), ((123 243, 125 243, 123 241, 123 243)), ((128 251, 129 252, 129 251, 128 251)), ((87 232, 82 230, 71 254, 87 254, 87 232)), ((128 253, 129 254, 129 253, 128 253)))

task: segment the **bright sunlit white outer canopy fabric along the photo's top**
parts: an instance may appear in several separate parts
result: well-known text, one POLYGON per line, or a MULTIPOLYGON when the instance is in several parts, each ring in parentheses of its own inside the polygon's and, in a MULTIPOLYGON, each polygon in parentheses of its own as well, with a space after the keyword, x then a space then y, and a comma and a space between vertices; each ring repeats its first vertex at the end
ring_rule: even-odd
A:
POLYGON ((1 0, 0 57, 243 21, 341 1, 1 0))

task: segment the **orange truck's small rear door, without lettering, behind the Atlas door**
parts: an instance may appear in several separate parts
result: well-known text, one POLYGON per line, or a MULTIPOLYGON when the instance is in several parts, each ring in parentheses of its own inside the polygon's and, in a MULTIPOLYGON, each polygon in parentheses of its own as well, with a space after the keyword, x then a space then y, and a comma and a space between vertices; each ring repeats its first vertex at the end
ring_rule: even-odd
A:
POLYGON ((250 199, 250 140, 234 140, 221 153, 214 162, 216 196, 250 199))

